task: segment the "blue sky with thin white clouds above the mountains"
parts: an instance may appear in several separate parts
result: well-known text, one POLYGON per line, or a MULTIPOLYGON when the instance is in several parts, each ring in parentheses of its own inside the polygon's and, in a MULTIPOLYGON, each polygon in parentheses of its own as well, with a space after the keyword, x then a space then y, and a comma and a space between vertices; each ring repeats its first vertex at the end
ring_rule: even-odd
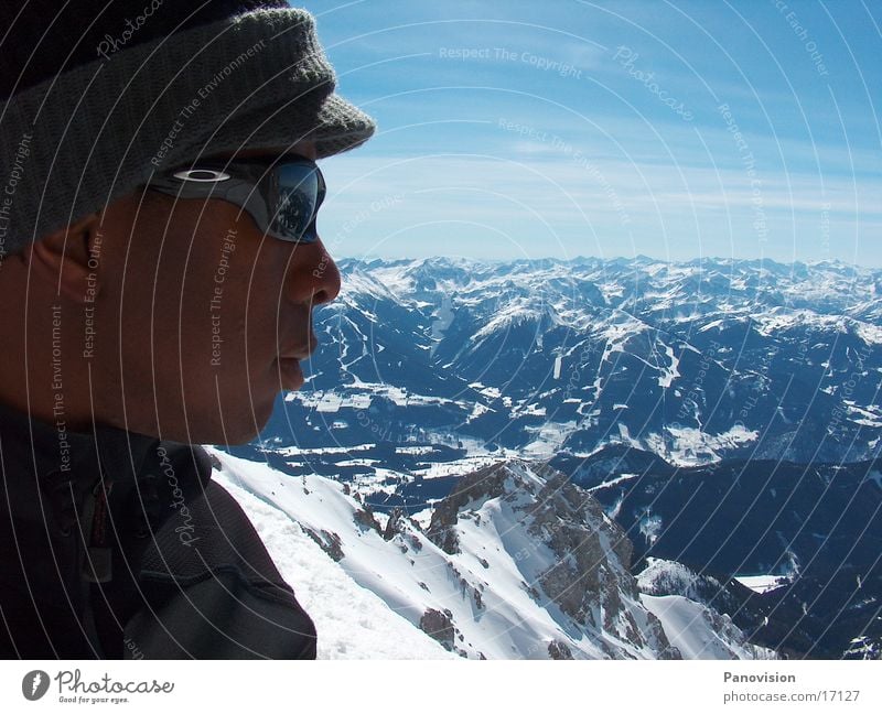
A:
POLYGON ((882 266, 882 3, 314 0, 335 257, 882 266))

